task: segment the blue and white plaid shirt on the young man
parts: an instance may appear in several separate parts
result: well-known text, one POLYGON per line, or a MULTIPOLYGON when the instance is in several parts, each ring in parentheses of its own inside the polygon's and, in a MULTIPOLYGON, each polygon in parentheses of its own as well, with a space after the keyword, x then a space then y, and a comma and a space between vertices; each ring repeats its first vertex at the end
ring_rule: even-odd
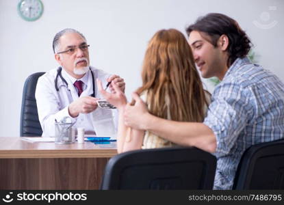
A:
POLYGON ((217 141, 214 189, 231 189, 244 151, 284 135, 284 85, 247 57, 236 59, 216 87, 204 124, 217 141))

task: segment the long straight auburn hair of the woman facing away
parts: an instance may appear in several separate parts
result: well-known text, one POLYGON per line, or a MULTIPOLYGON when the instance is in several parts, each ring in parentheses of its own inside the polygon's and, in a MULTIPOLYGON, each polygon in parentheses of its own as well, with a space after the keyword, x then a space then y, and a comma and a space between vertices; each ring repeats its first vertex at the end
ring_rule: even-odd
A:
POLYGON ((170 111, 171 120, 203 122, 208 102, 192 50, 180 31, 157 31, 149 42, 142 66, 142 87, 137 90, 138 94, 143 92, 153 115, 168 118, 170 111))

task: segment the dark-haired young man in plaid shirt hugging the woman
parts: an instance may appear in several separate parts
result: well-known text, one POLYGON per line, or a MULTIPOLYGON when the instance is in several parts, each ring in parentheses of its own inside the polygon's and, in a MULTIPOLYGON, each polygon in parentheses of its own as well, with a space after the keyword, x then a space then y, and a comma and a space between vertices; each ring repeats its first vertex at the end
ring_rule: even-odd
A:
POLYGON ((222 81, 211 96, 203 123, 174 122, 151 115, 133 94, 125 122, 182 146, 195 146, 218 159, 214 189, 231 189, 244 151, 284 135, 284 85, 248 57, 250 40, 237 22, 207 14, 187 29, 196 65, 205 78, 222 81))

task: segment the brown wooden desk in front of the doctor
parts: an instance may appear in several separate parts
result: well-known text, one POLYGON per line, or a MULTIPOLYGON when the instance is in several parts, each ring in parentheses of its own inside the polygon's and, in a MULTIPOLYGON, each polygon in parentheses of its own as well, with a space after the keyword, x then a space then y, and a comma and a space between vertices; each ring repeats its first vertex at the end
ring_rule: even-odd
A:
POLYGON ((116 143, 55 144, 0 137, 0 189, 99 189, 116 143))

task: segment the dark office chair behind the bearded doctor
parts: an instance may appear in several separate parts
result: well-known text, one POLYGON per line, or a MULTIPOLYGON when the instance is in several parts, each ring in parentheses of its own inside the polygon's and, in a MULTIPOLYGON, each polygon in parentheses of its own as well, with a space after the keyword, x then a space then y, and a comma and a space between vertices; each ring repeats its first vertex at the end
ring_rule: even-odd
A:
POLYGON ((38 120, 38 108, 36 107, 36 83, 44 72, 31 74, 25 80, 21 107, 20 136, 35 137, 42 135, 42 128, 38 120))

